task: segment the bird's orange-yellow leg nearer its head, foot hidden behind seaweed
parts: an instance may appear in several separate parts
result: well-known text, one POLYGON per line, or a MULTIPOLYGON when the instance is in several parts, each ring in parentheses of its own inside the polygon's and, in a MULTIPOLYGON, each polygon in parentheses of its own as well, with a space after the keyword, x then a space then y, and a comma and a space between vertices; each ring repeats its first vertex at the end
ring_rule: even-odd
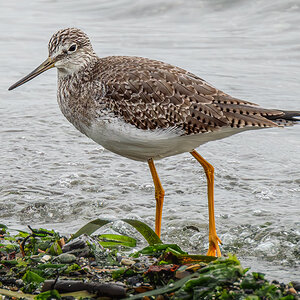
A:
POLYGON ((155 213, 155 233, 160 237, 162 208, 164 204, 165 191, 157 175, 153 159, 148 160, 149 168, 155 187, 156 213, 155 213))

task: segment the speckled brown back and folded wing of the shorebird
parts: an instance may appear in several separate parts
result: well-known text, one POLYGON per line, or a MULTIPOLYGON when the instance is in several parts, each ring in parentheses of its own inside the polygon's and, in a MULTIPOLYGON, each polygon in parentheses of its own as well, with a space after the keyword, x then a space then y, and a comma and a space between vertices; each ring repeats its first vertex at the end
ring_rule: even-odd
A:
POLYGON ((140 57, 99 59, 93 73, 105 86, 109 109, 140 129, 179 127, 185 134, 222 127, 274 127, 279 110, 233 98, 172 65, 140 57))

